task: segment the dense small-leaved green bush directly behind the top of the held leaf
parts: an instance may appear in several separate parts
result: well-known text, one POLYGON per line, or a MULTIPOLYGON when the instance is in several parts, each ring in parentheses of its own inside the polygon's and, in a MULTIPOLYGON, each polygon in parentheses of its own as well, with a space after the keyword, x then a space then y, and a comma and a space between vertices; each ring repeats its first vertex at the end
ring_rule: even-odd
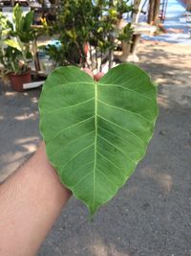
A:
MULTIPOLYGON (((125 0, 61 0, 53 23, 44 23, 49 35, 61 42, 60 48, 49 48, 56 66, 88 65, 85 45, 90 43, 101 54, 116 47, 117 22, 122 13, 133 7, 125 0), (60 58, 57 58, 60 57, 60 58)), ((129 33, 127 31, 127 33, 129 33)), ((130 35, 127 35, 130 36, 130 35)))

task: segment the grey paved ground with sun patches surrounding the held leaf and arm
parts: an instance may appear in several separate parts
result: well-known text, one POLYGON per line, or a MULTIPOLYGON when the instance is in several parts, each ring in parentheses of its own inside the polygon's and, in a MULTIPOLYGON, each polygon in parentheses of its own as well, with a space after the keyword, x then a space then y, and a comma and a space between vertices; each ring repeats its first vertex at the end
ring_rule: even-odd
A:
MULTIPOLYGON (((146 157, 88 221, 74 198, 38 256, 191 256, 191 49, 145 42, 140 65, 159 82, 159 120, 146 157)), ((37 99, 0 86, 0 179, 35 151, 37 99)))

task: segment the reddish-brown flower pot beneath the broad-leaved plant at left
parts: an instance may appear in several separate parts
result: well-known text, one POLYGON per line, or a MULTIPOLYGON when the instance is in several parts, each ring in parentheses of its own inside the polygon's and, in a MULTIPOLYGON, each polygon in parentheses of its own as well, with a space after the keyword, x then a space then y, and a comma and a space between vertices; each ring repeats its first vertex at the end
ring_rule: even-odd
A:
POLYGON ((31 71, 27 71, 24 74, 10 73, 9 78, 11 81, 11 87, 14 91, 23 92, 23 83, 32 81, 31 71))

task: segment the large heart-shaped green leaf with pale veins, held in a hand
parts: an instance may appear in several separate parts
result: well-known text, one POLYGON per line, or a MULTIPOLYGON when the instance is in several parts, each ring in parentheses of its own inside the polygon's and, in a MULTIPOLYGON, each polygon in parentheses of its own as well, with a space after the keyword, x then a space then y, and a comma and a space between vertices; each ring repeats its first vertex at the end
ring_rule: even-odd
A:
POLYGON ((69 66, 53 71, 39 101, 40 130, 61 182, 94 215, 134 172, 152 137, 157 91, 132 64, 94 81, 69 66))

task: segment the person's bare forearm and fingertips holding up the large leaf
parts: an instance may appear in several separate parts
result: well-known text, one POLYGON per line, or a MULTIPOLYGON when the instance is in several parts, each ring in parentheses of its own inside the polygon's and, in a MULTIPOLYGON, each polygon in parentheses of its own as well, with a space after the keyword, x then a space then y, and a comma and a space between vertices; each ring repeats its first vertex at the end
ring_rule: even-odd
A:
MULTIPOLYGON (((85 70, 90 76, 93 73, 85 70)), ((96 80, 103 74, 96 74, 96 80)), ((32 256, 71 198, 46 155, 45 144, 0 185, 0 255, 32 256)))

